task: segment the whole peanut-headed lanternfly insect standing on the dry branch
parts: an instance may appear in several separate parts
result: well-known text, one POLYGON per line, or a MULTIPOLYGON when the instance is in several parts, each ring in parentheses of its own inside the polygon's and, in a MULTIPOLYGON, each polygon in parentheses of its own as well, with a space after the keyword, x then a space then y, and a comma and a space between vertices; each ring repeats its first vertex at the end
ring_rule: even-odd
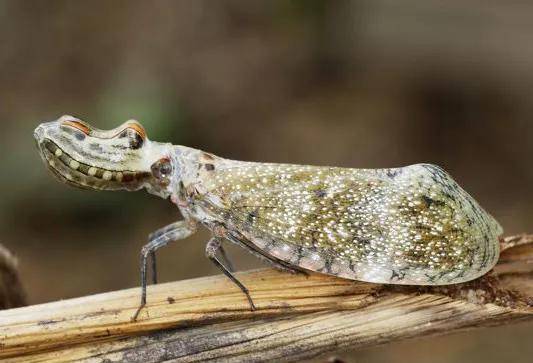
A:
POLYGON ((245 294, 223 244, 231 241, 289 272, 316 271, 387 284, 444 285, 488 272, 500 225, 443 169, 416 164, 349 169, 244 162, 150 141, 137 121, 102 131, 72 117, 40 125, 49 169, 95 190, 146 189, 175 203, 183 220, 157 230, 141 251, 141 303, 155 251, 212 231, 206 256, 245 294))

